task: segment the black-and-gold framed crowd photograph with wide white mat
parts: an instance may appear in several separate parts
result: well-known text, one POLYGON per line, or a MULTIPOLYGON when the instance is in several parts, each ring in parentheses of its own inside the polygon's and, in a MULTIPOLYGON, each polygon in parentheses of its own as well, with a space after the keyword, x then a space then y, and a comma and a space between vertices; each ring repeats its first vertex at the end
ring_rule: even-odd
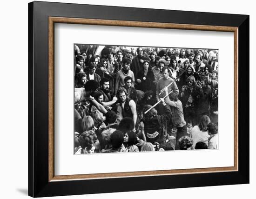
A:
POLYGON ((249 183, 249 16, 28 4, 28 194, 249 183))

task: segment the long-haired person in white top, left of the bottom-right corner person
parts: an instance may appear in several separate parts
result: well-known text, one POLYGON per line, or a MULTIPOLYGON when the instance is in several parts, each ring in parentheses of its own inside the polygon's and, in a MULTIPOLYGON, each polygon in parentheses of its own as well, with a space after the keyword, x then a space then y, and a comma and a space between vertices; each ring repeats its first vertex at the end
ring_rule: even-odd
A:
POLYGON ((211 122, 209 116, 203 115, 200 119, 199 125, 195 125, 193 129, 191 130, 191 138, 193 139, 193 145, 192 147, 195 148, 195 145, 197 142, 204 142, 206 145, 208 145, 208 125, 211 122))

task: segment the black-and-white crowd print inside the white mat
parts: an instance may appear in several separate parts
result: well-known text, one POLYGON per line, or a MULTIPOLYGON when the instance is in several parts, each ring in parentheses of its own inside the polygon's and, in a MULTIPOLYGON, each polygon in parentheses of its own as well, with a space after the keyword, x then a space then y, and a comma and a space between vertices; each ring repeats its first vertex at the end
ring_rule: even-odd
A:
POLYGON ((74 45, 74 153, 218 148, 218 50, 74 45))

